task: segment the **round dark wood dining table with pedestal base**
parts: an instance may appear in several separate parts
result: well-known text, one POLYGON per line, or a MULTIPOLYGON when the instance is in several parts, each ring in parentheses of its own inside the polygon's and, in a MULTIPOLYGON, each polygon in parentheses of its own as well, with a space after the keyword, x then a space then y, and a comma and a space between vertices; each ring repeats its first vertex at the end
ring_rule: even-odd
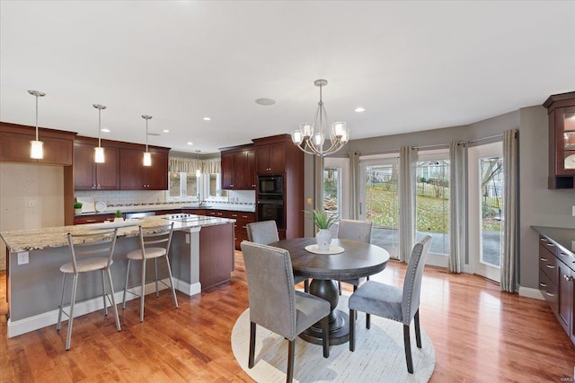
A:
MULTIPOLYGON (((330 302, 330 344, 349 341, 349 315, 336 309, 340 300, 338 281, 377 274, 385 269, 389 253, 366 242, 332 239, 330 249, 336 254, 321 254, 314 238, 282 239, 270 246, 289 251, 295 276, 312 278, 309 292, 330 302), (312 251, 309 251, 312 250, 312 251)), ((305 341, 322 344, 322 326, 316 323, 301 335, 305 341)))

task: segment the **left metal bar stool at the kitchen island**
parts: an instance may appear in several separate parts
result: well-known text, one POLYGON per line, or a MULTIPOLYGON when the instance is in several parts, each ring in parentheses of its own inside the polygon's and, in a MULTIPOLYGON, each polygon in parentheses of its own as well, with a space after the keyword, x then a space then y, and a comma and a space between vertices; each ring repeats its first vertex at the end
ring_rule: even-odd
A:
POLYGON ((70 349, 72 344, 72 325, 74 324, 74 306, 75 294, 78 287, 78 277, 80 274, 100 271, 102 274, 102 298, 104 300, 104 313, 108 315, 108 302, 106 297, 111 300, 111 306, 114 309, 114 317, 116 319, 116 329, 121 330, 119 325, 118 308, 116 307, 116 300, 114 299, 114 285, 111 281, 110 266, 113 263, 112 256, 114 254, 114 247, 116 245, 116 237, 118 229, 109 231, 97 231, 85 234, 70 234, 68 233, 68 246, 70 247, 71 262, 66 263, 60 267, 63 273, 62 278, 62 292, 60 296, 60 306, 57 313, 57 326, 59 331, 62 324, 62 314, 68 318, 68 331, 66 334, 66 350, 70 349), (72 292, 70 296, 70 306, 66 313, 64 310, 64 291, 66 290, 66 275, 74 274, 72 283, 72 292), (110 295, 106 294, 105 275, 108 276, 108 283, 110 283, 110 295))

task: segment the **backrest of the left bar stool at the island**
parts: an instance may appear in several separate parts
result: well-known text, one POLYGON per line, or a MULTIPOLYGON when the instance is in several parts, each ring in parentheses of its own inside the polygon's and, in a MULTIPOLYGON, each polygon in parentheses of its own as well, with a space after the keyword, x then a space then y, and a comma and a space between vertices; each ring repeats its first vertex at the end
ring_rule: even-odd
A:
POLYGON ((110 267, 117 235, 117 228, 84 234, 68 233, 68 246, 70 247, 70 257, 72 257, 74 274, 78 274, 79 272, 77 261, 81 258, 105 257, 108 258, 106 266, 110 267))

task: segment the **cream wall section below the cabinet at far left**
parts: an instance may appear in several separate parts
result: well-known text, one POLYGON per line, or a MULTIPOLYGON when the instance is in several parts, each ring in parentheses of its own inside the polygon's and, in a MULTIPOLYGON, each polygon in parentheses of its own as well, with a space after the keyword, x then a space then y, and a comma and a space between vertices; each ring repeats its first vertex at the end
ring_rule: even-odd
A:
MULTIPOLYGON (((0 163, 0 231, 64 226, 64 168, 0 163)), ((0 247, 0 269, 6 250, 0 247)))

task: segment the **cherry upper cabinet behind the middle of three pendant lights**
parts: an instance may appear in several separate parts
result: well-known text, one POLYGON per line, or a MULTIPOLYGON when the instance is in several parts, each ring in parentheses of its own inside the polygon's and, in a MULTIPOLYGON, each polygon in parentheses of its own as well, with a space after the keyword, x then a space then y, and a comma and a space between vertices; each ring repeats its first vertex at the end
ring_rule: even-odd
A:
MULTIPOLYGON (((105 162, 94 162, 97 141, 76 140, 74 143, 75 190, 118 190, 119 148, 104 146, 105 162)), ((103 146, 103 145, 102 145, 103 146)))

